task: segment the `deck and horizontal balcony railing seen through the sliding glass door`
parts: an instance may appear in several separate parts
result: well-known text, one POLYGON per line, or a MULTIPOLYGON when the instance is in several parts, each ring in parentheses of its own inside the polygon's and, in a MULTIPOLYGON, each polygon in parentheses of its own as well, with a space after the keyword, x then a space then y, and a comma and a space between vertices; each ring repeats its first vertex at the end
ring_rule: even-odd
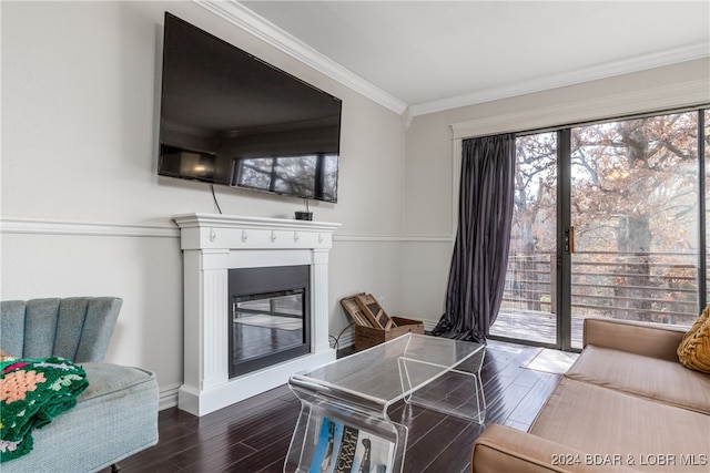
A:
MULTIPOLYGON (((572 341, 581 343, 581 320, 586 317, 691 325, 698 317, 697 261, 697 253, 575 253, 572 341)), ((555 341, 556 269, 551 253, 510 256, 493 335, 510 337, 518 327, 526 337, 515 338, 555 341)))

